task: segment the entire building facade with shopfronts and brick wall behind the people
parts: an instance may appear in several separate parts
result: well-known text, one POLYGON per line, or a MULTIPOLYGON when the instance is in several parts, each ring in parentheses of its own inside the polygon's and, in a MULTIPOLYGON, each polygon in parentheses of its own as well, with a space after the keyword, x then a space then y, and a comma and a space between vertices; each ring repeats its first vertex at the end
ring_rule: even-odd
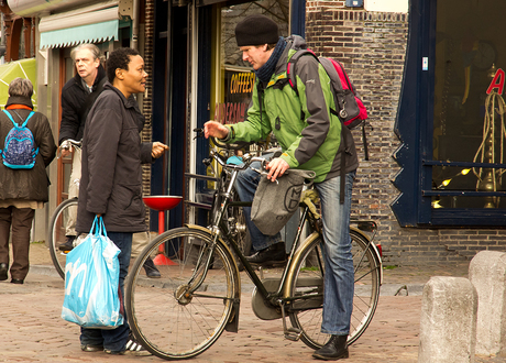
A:
MULTIPOLYGON (((210 119, 244 120, 254 77, 241 59, 233 29, 248 14, 265 13, 279 24, 282 35, 304 35, 317 54, 341 61, 367 107, 366 143, 361 129, 353 131, 361 166, 352 212, 377 222, 375 240, 385 264, 466 262, 481 250, 506 245, 506 44, 493 26, 484 26, 499 24, 496 18, 506 6, 499 0, 464 2, 116 2, 119 8, 127 4, 114 15, 118 34, 108 35, 103 25, 106 37, 70 44, 58 43, 53 33, 51 46, 37 44, 40 110, 45 107, 57 130, 59 90, 72 76, 67 59, 73 45, 94 41, 107 53, 138 44, 150 74, 140 98, 147 120, 143 138, 170 146, 163 160, 145 168, 144 193, 205 198, 211 186, 185 176, 209 173, 201 164, 208 141, 195 139, 194 129, 210 119)), ((37 16, 38 41, 48 42, 44 32, 56 32, 44 30, 50 20, 64 12, 68 18, 69 11, 98 11, 100 3, 74 4, 70 10, 46 8, 20 15, 37 16)), ((58 179, 52 187, 55 208, 64 198, 65 172, 58 166, 51 173, 58 179)), ((193 207, 180 205, 167 213, 166 226, 200 218, 193 207)), ((156 230, 156 218, 152 220, 156 230)))

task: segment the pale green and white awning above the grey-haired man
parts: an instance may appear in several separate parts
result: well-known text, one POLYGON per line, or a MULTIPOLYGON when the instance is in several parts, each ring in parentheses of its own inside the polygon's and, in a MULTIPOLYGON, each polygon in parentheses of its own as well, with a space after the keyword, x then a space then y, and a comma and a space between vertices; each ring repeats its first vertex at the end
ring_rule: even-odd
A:
POLYGON ((41 19, 41 48, 118 40, 118 1, 81 8, 41 19))

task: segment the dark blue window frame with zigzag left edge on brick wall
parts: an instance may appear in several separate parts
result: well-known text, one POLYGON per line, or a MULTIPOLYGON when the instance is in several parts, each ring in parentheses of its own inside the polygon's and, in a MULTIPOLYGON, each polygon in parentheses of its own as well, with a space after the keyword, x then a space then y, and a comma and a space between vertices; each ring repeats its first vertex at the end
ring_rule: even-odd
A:
POLYGON ((506 191, 432 190, 433 166, 505 167, 502 164, 432 160, 436 16, 437 0, 410 1, 405 69, 394 127, 402 145, 393 154, 400 166, 393 183, 400 194, 391 208, 402 227, 504 227, 504 208, 435 209, 431 206, 435 196, 506 196, 506 191), (424 70, 424 59, 428 62, 427 70, 424 70))

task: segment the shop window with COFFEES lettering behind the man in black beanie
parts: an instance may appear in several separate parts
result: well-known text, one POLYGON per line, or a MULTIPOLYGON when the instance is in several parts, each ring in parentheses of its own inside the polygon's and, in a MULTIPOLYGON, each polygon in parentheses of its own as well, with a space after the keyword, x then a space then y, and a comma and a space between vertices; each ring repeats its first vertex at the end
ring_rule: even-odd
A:
MULTIPOLYGON (((292 0, 299 4, 301 0, 292 0)), ((245 16, 251 14, 262 13, 273 19, 279 26, 280 35, 287 36, 290 0, 261 0, 261 1, 230 1, 233 6, 217 4, 217 1, 202 1, 202 7, 199 9, 199 125, 204 124, 209 119, 219 121, 223 124, 242 122, 246 118, 246 111, 251 102, 253 87, 255 84, 255 74, 252 73, 252 67, 248 62, 242 61, 235 42, 235 25, 245 16), (205 7, 210 4, 210 7, 205 7), (213 4, 213 6, 212 6, 213 4), (212 12, 211 12, 211 7, 212 12), (211 21, 212 14, 212 21, 211 21), (209 18, 208 18, 209 16, 209 18), (212 23, 212 26, 206 25, 212 23), (210 73, 210 81, 207 73, 210 73), (206 74, 206 76, 202 76, 206 74)), ((227 2, 228 3, 228 2, 227 2)), ((298 11, 297 14, 302 16, 304 12, 298 11)), ((300 19, 297 19, 300 23, 300 19)), ((197 151, 197 174, 207 174, 216 176, 215 172, 218 165, 213 168, 204 169, 204 164, 199 161, 207 157, 209 144, 204 140, 196 140, 197 143, 202 142, 197 151)), ((200 205, 209 205, 212 202, 215 193, 215 183, 208 179, 198 179, 195 182, 195 201, 200 205)), ((196 215, 196 218, 202 218, 196 215)))

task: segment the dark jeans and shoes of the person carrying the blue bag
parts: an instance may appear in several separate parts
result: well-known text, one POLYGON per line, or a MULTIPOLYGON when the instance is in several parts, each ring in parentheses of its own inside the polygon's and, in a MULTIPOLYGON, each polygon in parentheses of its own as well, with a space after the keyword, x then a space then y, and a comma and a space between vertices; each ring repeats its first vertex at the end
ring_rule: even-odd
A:
POLYGON ((129 273, 130 254, 132 251, 132 233, 108 232, 109 239, 121 250, 118 258, 120 261, 120 290, 121 309, 123 310, 123 324, 116 329, 87 329, 80 328, 80 343, 89 345, 102 345, 113 352, 125 350, 129 339, 130 327, 124 314, 124 278, 129 273))

